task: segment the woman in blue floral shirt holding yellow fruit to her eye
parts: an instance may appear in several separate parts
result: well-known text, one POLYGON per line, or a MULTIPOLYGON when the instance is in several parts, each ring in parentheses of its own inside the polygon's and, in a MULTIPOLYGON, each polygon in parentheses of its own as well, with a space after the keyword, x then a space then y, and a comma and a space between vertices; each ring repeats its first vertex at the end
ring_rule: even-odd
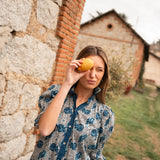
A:
POLYGON ((114 125, 114 114, 104 104, 108 80, 105 52, 96 46, 84 48, 70 63, 62 86, 52 85, 39 98, 35 125, 41 136, 31 160, 105 159, 103 146, 114 125), (77 71, 86 57, 94 66, 77 71))

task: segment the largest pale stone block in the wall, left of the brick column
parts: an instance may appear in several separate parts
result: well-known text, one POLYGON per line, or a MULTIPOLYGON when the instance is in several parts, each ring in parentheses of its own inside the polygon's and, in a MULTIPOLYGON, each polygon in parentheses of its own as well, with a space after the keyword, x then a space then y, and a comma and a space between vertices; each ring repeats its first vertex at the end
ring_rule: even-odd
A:
POLYGON ((55 57, 56 53, 37 39, 15 37, 3 52, 7 64, 2 68, 4 73, 13 71, 47 81, 51 77, 55 57))

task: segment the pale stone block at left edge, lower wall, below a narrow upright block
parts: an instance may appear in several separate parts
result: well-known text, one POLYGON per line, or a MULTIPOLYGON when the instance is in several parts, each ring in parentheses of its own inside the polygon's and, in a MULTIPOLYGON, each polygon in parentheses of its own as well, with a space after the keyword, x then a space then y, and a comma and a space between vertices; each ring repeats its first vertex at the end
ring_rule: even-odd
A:
POLYGON ((0 117, 0 142, 9 141, 22 134, 25 117, 19 111, 12 116, 0 117))

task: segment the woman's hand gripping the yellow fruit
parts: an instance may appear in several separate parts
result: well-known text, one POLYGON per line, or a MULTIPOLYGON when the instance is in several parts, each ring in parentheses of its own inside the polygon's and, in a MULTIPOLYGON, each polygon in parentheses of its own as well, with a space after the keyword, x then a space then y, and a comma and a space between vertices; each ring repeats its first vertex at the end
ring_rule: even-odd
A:
POLYGON ((80 72, 80 71, 77 70, 77 68, 79 66, 81 66, 82 63, 83 63, 82 60, 71 61, 71 63, 69 64, 68 70, 67 70, 67 75, 66 75, 65 82, 67 82, 68 84, 70 84, 72 86, 81 77, 83 77, 87 73, 87 71, 86 72, 80 72))

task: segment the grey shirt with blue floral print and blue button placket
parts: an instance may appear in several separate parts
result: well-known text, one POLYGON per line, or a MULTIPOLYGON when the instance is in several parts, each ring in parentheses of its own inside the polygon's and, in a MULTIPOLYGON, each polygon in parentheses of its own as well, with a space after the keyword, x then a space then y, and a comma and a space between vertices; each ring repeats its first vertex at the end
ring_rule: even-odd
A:
MULTIPOLYGON (((52 85, 39 98, 41 113, 51 103, 60 89, 52 85)), ((87 102, 76 107, 77 95, 72 87, 65 99, 54 131, 40 136, 30 160, 104 160, 102 150, 114 126, 114 113, 108 106, 99 103, 94 94, 87 102)))

